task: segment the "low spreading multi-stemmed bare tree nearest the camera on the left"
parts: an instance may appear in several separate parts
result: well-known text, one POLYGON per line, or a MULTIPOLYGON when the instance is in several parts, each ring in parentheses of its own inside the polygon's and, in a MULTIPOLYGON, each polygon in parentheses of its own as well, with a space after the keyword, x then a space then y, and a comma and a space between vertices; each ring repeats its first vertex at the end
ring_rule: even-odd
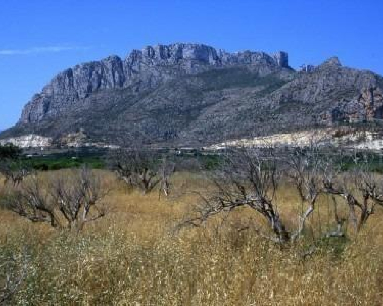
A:
POLYGON ((81 229, 84 223, 105 215, 101 199, 106 192, 101 179, 90 169, 81 168, 66 179, 38 176, 20 188, 10 190, 5 205, 11 211, 33 222, 45 222, 53 227, 81 229))

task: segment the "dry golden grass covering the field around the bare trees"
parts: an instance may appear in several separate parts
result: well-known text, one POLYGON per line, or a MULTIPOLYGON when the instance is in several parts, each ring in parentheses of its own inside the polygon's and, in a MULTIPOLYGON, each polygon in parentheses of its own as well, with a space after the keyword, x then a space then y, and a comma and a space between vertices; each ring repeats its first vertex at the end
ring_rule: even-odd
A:
MULTIPOLYGON (((58 174, 59 172, 57 172, 58 174)), ((27 254, 27 277, 14 305, 381 305, 382 212, 357 237, 316 240, 318 252, 303 260, 312 241, 280 246, 235 225, 255 218, 243 209, 206 228, 175 226, 198 202, 196 195, 164 198, 115 188, 109 212, 82 232, 52 229, 0 210, 0 262, 27 254), (319 242, 318 242, 319 241, 319 242), (20 255, 20 256, 19 256, 20 255)), ((198 175, 183 173, 175 186, 199 189, 198 175)), ((296 221, 298 197, 278 195, 296 221)), ((327 224, 328 199, 309 220, 313 241, 327 224)), ((15 267, 17 271, 17 267, 15 267)))

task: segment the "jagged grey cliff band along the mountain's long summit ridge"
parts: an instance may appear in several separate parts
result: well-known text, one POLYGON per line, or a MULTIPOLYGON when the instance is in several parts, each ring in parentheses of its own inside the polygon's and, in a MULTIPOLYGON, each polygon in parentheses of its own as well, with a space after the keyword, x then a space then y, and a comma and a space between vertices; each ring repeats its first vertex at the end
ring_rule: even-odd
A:
POLYGON ((179 75, 237 65, 257 67, 261 74, 277 68, 290 69, 285 52, 275 55, 251 51, 228 53, 204 44, 183 43, 147 46, 133 50, 124 60, 110 56, 59 73, 26 104, 19 123, 38 122, 65 114, 67 109, 78 107, 79 101, 100 90, 133 86, 140 92, 179 75))

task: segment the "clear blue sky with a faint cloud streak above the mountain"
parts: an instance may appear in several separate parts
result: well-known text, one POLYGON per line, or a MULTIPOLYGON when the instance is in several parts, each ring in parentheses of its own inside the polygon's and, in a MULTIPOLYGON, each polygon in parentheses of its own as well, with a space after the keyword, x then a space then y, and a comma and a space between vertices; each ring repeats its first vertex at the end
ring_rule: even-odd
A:
POLYGON ((58 72, 148 44, 285 50, 290 65, 337 55, 383 74, 382 0, 3 0, 0 129, 58 72))

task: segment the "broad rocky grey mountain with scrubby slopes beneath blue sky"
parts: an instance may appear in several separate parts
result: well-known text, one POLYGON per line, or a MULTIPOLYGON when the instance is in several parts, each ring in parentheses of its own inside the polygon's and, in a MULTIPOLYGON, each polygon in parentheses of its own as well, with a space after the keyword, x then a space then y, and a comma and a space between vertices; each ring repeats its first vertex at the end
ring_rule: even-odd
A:
POLYGON ((59 73, 0 138, 201 146, 382 116, 383 78, 336 57, 296 72, 286 52, 177 43, 59 73))

